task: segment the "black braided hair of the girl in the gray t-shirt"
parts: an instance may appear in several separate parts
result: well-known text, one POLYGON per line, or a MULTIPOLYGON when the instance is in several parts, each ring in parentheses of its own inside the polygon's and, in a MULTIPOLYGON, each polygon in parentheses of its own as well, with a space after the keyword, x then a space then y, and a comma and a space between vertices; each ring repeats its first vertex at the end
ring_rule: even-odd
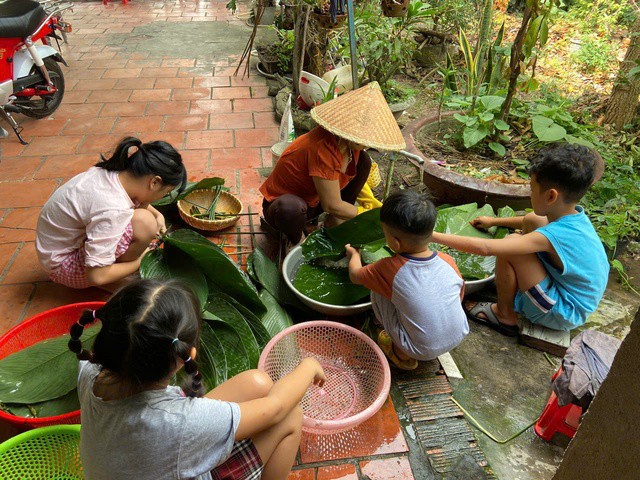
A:
POLYGON ((190 356, 199 332, 200 305, 188 287, 175 280, 140 279, 101 308, 83 312, 70 329, 69 349, 115 374, 132 392, 166 379, 181 359, 190 377, 185 393, 202 396, 201 375, 190 356), (80 336, 94 320, 100 320, 102 328, 89 352, 80 336))

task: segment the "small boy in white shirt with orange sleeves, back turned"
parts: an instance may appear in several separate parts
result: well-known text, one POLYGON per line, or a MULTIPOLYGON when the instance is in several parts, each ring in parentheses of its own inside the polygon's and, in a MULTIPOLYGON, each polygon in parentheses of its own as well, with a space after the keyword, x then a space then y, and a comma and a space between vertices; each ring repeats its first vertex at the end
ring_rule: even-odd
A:
POLYGON ((425 193, 401 190, 380 209, 395 255, 363 267, 360 253, 346 245, 351 281, 371 290, 373 311, 384 326, 378 345, 403 370, 448 352, 469 333, 460 271, 449 255, 429 249, 436 214, 425 193))

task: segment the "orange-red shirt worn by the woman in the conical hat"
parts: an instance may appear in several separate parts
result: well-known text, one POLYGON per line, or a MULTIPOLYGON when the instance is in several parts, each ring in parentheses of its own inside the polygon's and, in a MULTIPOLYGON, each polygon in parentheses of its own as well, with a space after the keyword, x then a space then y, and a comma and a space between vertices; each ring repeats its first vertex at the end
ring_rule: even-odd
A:
POLYGON ((322 127, 316 127, 287 147, 269 178, 260 187, 260 193, 268 202, 291 193, 315 207, 320 198, 312 177, 337 180, 342 190, 355 177, 359 156, 360 150, 354 150, 353 161, 342 173, 343 156, 338 148, 338 137, 322 127))

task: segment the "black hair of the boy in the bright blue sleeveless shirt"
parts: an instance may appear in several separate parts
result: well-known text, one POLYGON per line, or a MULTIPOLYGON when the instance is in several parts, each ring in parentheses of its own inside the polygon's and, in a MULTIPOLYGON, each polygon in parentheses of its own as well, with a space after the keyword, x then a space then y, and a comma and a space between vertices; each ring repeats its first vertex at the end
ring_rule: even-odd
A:
POLYGON ((529 174, 545 189, 558 189, 565 201, 578 202, 595 180, 602 158, 595 150, 568 142, 541 148, 529 174))

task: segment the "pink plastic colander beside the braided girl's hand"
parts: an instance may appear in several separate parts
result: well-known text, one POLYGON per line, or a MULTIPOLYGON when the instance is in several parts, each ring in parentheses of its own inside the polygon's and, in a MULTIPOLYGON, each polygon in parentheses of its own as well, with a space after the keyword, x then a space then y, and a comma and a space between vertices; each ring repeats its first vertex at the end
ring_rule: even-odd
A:
POLYGON ((382 407, 391 373, 380 347, 360 330, 336 322, 313 321, 289 327, 273 337, 258 368, 275 382, 305 357, 324 369, 323 388, 312 385, 302 399, 302 429, 338 433, 364 422, 382 407))

